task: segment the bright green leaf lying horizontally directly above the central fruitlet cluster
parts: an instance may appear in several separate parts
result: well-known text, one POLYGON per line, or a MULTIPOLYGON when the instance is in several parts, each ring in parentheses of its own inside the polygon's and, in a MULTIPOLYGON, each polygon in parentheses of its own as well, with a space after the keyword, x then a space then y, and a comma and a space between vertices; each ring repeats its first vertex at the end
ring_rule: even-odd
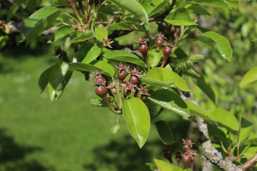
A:
POLYGON ((123 50, 110 50, 105 54, 103 54, 103 56, 111 60, 124 61, 128 63, 144 66, 144 62, 140 60, 137 55, 130 52, 123 51, 123 50))

